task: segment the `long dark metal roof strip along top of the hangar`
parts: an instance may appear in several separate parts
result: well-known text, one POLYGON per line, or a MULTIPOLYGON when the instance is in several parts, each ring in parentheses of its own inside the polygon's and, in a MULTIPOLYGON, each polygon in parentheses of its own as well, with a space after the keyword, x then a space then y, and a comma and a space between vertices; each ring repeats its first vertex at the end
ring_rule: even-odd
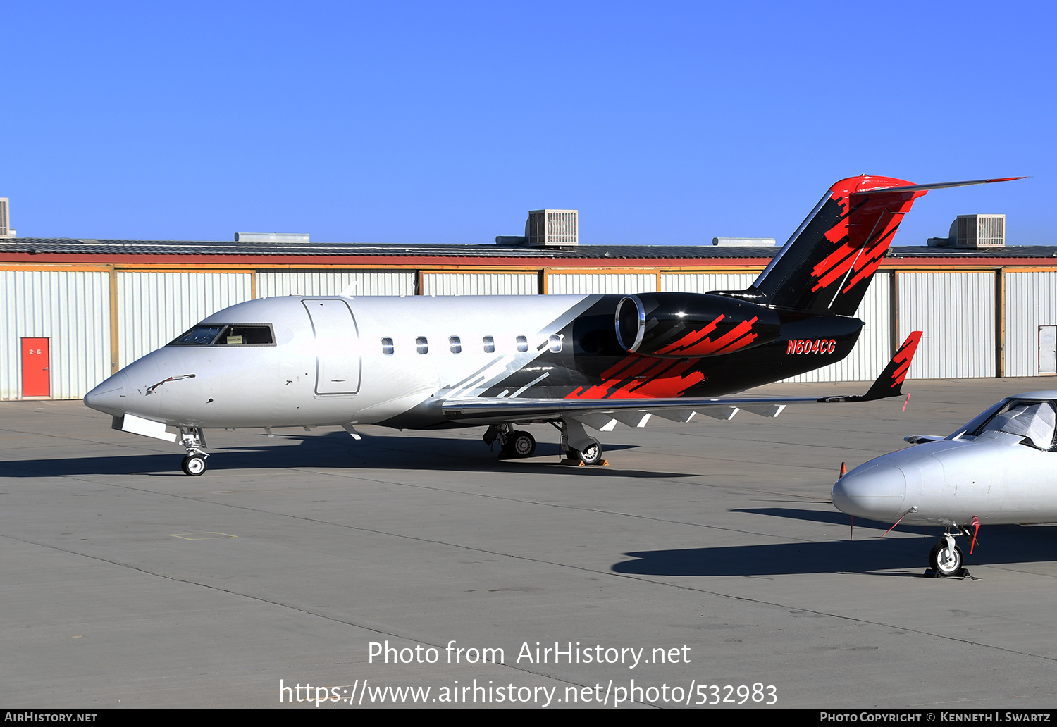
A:
MULTIPOLYGON (((71 238, 0 239, 0 254, 22 255, 166 255, 166 256, 307 256, 393 258, 539 258, 541 260, 649 260, 771 258, 781 247, 717 245, 578 245, 520 247, 505 245, 375 245, 319 242, 209 242, 193 240, 78 240, 71 238)), ((893 246, 889 258, 1055 258, 1054 245, 1008 245, 1000 249, 893 246)))

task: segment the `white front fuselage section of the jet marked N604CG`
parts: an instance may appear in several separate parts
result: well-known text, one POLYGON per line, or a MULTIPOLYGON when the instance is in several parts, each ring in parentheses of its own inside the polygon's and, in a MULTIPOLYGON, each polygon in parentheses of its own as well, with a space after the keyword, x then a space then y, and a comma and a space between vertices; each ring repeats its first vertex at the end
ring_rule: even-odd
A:
POLYGON ((439 394, 475 395, 509 371, 531 369, 550 336, 597 298, 253 300, 200 324, 268 324, 273 344, 167 346, 111 376, 85 402, 114 416, 180 427, 385 422, 439 404, 439 394))

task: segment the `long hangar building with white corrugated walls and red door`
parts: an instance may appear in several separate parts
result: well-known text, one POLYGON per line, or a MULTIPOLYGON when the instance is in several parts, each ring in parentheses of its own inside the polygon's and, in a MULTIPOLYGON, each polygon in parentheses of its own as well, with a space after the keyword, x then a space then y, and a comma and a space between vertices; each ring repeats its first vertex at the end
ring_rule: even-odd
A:
MULTIPOLYGON (((251 298, 335 295, 353 283, 353 295, 705 293, 746 287, 780 249, 297 240, 0 239, 0 399, 80 398, 251 298)), ((1055 250, 892 247, 856 314, 866 328, 852 355, 790 380, 873 379, 915 330, 925 335, 914 378, 1054 374, 1055 250)))

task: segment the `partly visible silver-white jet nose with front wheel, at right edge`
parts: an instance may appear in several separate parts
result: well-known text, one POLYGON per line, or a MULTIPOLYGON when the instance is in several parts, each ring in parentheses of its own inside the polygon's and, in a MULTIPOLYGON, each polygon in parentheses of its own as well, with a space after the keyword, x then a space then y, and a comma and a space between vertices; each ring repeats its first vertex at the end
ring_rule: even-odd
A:
POLYGON ((1057 522, 1055 423, 1057 391, 1004 398, 950 436, 908 436, 919 446, 859 465, 833 485, 833 504, 852 517, 943 527, 929 565, 958 575, 954 536, 971 553, 983 524, 1057 522))

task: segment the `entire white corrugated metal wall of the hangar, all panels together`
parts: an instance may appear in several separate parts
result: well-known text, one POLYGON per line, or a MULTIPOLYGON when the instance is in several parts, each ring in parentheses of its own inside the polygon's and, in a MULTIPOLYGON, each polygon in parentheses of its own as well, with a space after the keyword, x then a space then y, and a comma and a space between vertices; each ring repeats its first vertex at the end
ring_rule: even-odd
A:
MULTIPOLYGON (((413 295, 418 271, 259 271, 219 273, 119 272, 116 335, 118 362, 127 366, 207 315, 257 297, 413 295)), ((843 361, 791 381, 870 380, 891 356, 891 275, 876 276, 856 316, 866 328, 843 361)), ((678 273, 660 276, 663 291, 741 290, 752 273, 678 273)), ((0 398, 21 397, 20 339, 51 339, 53 398, 78 398, 110 374, 110 290, 106 272, 0 271, 0 398)), ((552 294, 622 294, 654 291, 657 275, 637 272, 546 274, 552 294)), ((996 375, 996 275, 990 272, 900 273, 900 339, 925 335, 912 378, 996 375)), ((539 274, 423 272, 426 295, 533 295, 539 274)), ((1057 272, 1005 274, 1005 375, 1038 375, 1038 328, 1057 325, 1057 272)))

